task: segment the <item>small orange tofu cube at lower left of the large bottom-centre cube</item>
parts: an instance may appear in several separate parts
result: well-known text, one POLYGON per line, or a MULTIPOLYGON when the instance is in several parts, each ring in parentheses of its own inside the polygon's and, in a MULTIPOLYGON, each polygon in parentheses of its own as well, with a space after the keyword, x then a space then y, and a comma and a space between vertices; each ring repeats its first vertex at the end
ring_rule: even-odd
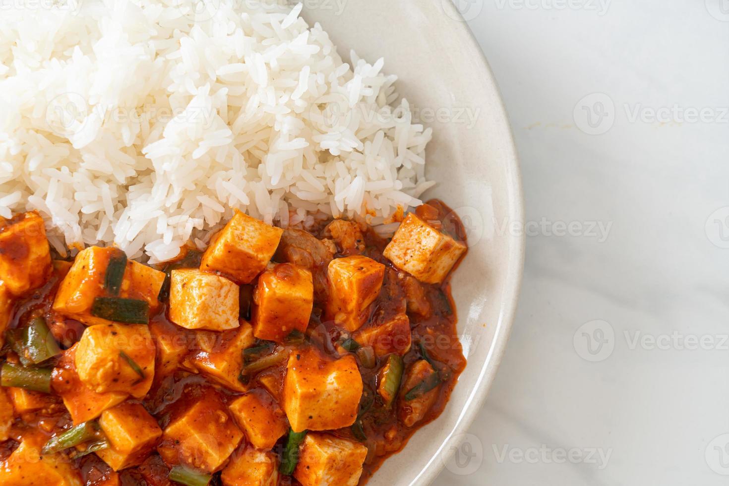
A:
POLYGON ((286 416, 276 401, 265 391, 249 391, 228 404, 233 418, 257 449, 270 450, 289 430, 286 416))

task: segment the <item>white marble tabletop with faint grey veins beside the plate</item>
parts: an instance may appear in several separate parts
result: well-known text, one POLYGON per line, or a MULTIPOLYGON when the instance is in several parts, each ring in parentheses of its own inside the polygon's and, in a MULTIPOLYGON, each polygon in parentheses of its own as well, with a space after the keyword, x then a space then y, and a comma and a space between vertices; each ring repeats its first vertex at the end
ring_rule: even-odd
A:
POLYGON ((729 1, 606 1, 470 0, 532 224, 502 367, 437 485, 729 481, 729 1))

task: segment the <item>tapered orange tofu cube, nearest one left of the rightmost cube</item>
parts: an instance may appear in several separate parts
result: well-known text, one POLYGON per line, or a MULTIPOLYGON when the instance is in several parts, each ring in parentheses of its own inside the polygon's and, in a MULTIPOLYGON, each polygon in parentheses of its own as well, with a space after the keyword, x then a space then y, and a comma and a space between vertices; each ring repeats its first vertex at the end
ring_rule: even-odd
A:
POLYGON ((370 315, 367 307, 380 293, 385 265, 367 256, 345 256, 330 262, 327 275, 330 286, 327 318, 354 332, 370 315))

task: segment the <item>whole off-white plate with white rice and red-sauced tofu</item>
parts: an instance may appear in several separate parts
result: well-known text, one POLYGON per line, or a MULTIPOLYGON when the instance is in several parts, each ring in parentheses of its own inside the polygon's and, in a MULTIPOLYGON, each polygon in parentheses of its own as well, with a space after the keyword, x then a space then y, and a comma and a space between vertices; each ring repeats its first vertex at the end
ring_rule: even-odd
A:
POLYGON ((3 485, 427 484, 467 439, 522 202, 450 1, 12 4, 0 105, 3 485))

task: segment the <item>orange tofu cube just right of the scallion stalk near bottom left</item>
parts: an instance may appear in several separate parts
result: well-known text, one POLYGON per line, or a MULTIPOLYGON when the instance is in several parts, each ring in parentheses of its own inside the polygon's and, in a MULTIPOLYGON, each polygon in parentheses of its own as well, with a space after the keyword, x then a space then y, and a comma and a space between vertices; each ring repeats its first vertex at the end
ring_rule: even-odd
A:
POLYGON ((162 436, 157 420, 140 404, 128 401, 104 410, 98 424, 111 447, 96 454, 114 471, 139 466, 162 436))

